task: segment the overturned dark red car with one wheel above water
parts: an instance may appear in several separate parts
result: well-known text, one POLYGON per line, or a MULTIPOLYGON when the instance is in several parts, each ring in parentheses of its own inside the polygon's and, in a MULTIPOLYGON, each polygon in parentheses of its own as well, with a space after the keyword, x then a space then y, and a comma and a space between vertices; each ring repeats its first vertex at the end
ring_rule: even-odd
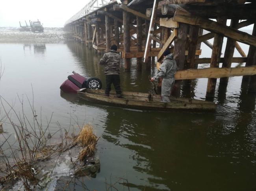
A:
POLYGON ((72 73, 73 74, 69 75, 68 79, 60 86, 60 89, 65 93, 76 92, 81 88, 101 89, 102 83, 100 79, 84 77, 74 71, 72 73))

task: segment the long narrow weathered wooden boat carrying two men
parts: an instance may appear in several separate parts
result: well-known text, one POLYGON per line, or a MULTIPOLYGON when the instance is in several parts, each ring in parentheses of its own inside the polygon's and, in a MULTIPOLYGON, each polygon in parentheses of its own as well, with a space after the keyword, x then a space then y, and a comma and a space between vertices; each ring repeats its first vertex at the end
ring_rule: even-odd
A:
POLYGON ((77 91, 78 96, 84 100, 100 101, 108 104, 115 104, 122 107, 134 107, 140 109, 206 109, 215 110, 217 105, 214 102, 196 100, 190 98, 175 98, 170 96, 170 103, 161 102, 161 95, 150 93, 139 93, 122 91, 122 98, 115 98, 115 92, 111 91, 109 97, 104 96, 103 89, 82 88, 77 91))

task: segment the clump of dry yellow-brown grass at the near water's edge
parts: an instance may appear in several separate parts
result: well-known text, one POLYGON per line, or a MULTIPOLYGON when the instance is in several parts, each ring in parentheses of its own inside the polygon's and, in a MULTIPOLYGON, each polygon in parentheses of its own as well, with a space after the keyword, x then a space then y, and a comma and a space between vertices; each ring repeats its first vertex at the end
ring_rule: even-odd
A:
POLYGON ((78 159, 81 162, 83 162, 85 158, 94 155, 97 141, 98 138, 93 133, 93 127, 89 124, 83 126, 76 138, 78 145, 83 147, 83 149, 78 154, 78 159))

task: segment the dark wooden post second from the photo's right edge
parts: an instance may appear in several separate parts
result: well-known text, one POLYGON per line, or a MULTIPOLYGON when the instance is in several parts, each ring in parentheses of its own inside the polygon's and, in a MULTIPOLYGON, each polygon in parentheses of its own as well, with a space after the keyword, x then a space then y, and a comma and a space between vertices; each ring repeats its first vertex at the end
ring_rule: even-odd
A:
MULTIPOLYGON (((233 20, 231 20, 230 27, 233 27, 233 28, 236 29, 237 26, 238 26, 238 23, 239 23, 238 19, 233 19, 233 20)), ((232 58, 234 56, 235 45, 236 45, 236 40, 234 40, 232 38, 227 39, 226 50, 225 50, 225 53, 224 53, 224 62, 222 64, 222 67, 231 67, 232 58)), ((228 84, 228 77, 221 78, 220 83, 227 85, 228 84)))

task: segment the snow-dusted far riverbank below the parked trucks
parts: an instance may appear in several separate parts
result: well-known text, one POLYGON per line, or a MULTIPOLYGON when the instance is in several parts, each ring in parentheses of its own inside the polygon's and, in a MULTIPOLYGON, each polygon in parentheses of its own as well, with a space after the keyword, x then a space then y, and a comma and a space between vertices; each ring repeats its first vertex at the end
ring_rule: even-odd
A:
POLYGON ((72 40, 72 34, 63 28, 45 28, 43 33, 20 32, 18 27, 0 27, 0 42, 33 40, 72 40))

